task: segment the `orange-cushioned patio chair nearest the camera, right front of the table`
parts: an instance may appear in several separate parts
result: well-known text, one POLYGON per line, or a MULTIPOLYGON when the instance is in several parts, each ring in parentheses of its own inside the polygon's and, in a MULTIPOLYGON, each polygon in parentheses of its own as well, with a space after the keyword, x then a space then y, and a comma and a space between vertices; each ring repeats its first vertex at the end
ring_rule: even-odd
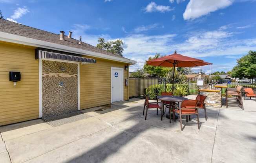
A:
MULTIPOLYGON (((179 114, 179 121, 181 124, 181 130, 182 128, 182 116, 190 116, 190 115, 197 115, 197 127, 199 129, 199 118, 198 118, 198 110, 197 110, 197 103, 198 100, 183 100, 181 102, 181 107, 177 107, 175 105, 172 105, 174 109, 172 109, 172 116, 174 121, 175 120, 175 113, 179 114), (177 109, 177 110, 176 110, 177 109)), ((188 121, 188 117, 187 117, 188 121)), ((171 118, 170 118, 171 122, 171 118)))

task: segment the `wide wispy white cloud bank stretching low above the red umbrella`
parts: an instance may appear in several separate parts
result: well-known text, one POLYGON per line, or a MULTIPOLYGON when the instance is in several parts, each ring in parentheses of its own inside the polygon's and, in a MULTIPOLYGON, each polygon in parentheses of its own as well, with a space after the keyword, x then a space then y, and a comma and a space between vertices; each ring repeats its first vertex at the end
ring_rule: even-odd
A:
MULTIPOLYGON (((227 29, 226 26, 219 27, 219 29, 213 31, 198 31, 197 33, 187 35, 130 34, 119 39, 124 41, 124 57, 137 61, 135 65, 130 66, 131 72, 143 68, 145 60, 149 56, 154 56, 155 53, 172 54, 177 50, 177 53, 194 58, 215 56, 222 59, 224 57, 240 56, 248 53, 250 50, 256 51, 256 38, 237 40, 233 36, 238 33, 225 31, 227 29), (185 40, 178 41, 182 37, 185 37, 185 40)), ((91 45, 97 45, 99 37, 103 37, 108 41, 117 39, 111 38, 108 34, 88 34, 87 30, 90 28, 89 25, 76 24, 71 31, 73 31, 74 38, 78 39, 79 36, 82 36, 82 41, 91 45)), ((211 60, 206 61, 212 62, 211 60)), ((225 65, 219 64, 218 66, 212 65, 212 71, 214 69, 230 70, 234 64, 235 62, 226 63, 225 65)))

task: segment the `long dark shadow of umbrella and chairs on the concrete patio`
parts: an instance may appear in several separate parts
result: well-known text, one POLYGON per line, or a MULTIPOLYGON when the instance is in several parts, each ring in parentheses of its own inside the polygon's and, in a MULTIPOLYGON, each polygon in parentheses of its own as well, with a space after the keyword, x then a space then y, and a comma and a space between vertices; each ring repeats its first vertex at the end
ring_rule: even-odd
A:
MULTIPOLYGON (((141 107, 141 113, 142 112, 143 112, 143 107, 141 107)), ((208 120, 210 120, 212 118, 217 119, 218 116, 216 116, 216 115, 218 115, 218 112, 219 112, 219 109, 211 110, 211 113, 208 115, 208 120)), ((136 111, 132 111, 131 113, 132 114, 134 113, 133 117, 135 116, 135 113, 137 114, 136 111)), ((150 129, 151 127, 157 127, 158 128, 158 126, 150 125, 150 124, 152 124, 152 122, 150 123, 150 120, 154 119, 153 116, 157 116, 155 110, 153 112, 151 111, 150 113, 148 113, 148 115, 149 114, 150 114, 150 116, 148 116, 146 121, 144 121, 144 116, 143 116, 141 121, 138 121, 132 127, 128 128, 128 129, 120 130, 120 131, 122 131, 120 134, 118 134, 118 135, 116 135, 116 136, 114 136, 110 139, 107 139, 106 141, 104 141, 104 143, 101 143, 100 145, 97 145, 96 147, 93 147, 88 152, 85 152, 85 153, 80 154, 79 156, 77 156, 75 158, 67 160, 66 163, 104 162, 104 160, 106 158, 108 158, 108 157, 112 156, 113 154, 117 153, 124 145, 129 143, 135 137, 139 136, 139 134, 141 134, 142 132, 150 129), (149 125, 144 125, 142 120, 145 123, 148 123, 149 125)), ((204 118, 204 112, 200 113, 200 118, 202 118, 202 117, 204 118), (201 115, 201 114, 203 114, 203 115, 201 115)), ((159 118, 159 121, 161 121, 160 120, 160 114, 158 114, 157 118, 159 118)), ((222 116, 222 118, 225 118, 225 117, 222 116)), ((130 119, 131 118, 127 118, 124 121, 130 120, 130 119)), ((122 121, 122 122, 124 122, 124 121, 122 121)), ((190 123, 186 123, 184 121, 186 121, 186 120, 182 120, 183 131, 186 130, 186 128, 189 127, 190 125, 197 125, 197 123, 194 123, 192 121, 190 121, 190 123)), ((167 121, 165 121, 165 122, 167 122, 167 121)), ((179 123, 179 119, 176 120, 176 122, 174 122, 173 120, 171 122, 172 123, 169 123, 169 121, 168 121, 168 124, 170 125, 171 128, 176 127, 178 130, 180 130, 179 125, 178 126, 174 125, 174 123, 176 123, 176 122, 179 123)), ((201 124, 202 123, 200 122, 200 126, 201 126, 201 124)), ((181 132, 181 134, 182 133, 183 132, 181 132)), ((186 135, 184 135, 184 136, 186 136, 186 135)), ((163 141, 168 141, 168 139, 163 140, 163 141)), ((129 159, 129 158, 126 158, 126 159, 129 159)))

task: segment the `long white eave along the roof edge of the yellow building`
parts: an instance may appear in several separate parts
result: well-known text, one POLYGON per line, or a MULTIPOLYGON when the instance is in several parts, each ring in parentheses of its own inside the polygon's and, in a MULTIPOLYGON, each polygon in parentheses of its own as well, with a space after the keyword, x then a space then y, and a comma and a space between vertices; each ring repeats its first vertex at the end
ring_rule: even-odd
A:
POLYGON ((83 50, 83 49, 60 45, 57 43, 36 40, 33 38, 27 38, 24 36, 18 36, 16 34, 10 34, 10 33, 5 33, 5 32, 1 32, 1 31, 0 31, 0 41, 18 43, 18 44, 29 45, 29 46, 33 46, 33 47, 41 47, 41 48, 52 49, 52 50, 57 50, 57 51, 65 51, 68 53, 76 53, 76 54, 81 54, 81 55, 86 55, 86 56, 93 56, 93 57, 97 57, 97 58, 114 60, 114 61, 118 61, 118 62, 129 63, 129 64, 137 63, 133 60, 128 60, 126 58, 119 58, 119 57, 110 56, 110 55, 106 55, 106 54, 102 54, 102 53, 96 53, 96 52, 92 52, 92 51, 87 51, 87 50, 83 50))

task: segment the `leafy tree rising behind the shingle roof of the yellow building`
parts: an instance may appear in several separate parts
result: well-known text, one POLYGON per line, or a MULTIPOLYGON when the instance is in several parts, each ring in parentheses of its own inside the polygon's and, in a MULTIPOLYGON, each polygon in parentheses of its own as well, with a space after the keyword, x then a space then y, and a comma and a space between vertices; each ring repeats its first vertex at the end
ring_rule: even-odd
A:
POLYGON ((122 40, 115 40, 115 41, 105 41, 104 38, 98 39, 97 47, 106 50, 110 53, 117 54, 119 56, 123 56, 123 41, 122 40))

